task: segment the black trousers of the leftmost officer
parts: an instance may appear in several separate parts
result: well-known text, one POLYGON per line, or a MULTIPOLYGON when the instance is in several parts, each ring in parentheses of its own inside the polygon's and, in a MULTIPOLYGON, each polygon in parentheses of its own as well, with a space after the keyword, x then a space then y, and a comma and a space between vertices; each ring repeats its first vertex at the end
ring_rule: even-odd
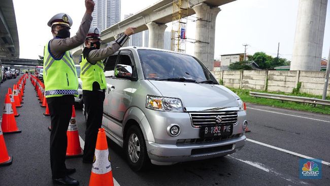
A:
POLYGON ((73 95, 46 98, 51 118, 50 167, 52 178, 65 176, 65 154, 67 153, 67 130, 72 116, 73 95))

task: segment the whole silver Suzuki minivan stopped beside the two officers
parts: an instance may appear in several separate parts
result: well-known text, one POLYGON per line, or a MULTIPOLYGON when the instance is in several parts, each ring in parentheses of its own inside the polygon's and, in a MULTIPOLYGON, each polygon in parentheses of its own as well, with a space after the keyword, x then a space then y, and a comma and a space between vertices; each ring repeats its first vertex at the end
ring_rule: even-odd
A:
POLYGON ((244 146, 245 104, 197 58, 123 47, 105 62, 102 126, 131 169, 222 157, 244 146))

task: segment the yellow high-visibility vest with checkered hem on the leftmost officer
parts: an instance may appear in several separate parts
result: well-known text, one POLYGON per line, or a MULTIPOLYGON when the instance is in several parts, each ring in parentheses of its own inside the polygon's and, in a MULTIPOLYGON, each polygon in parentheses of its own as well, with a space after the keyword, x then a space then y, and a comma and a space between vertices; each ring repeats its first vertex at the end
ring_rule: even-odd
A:
POLYGON ((59 59, 50 53, 49 42, 44 49, 45 96, 59 97, 74 95, 78 97, 78 77, 75 64, 69 51, 59 59))

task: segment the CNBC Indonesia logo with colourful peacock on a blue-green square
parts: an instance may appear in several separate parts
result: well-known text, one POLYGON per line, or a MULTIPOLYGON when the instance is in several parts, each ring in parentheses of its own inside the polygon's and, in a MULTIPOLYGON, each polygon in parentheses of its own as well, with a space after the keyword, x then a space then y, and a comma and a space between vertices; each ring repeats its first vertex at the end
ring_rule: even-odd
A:
POLYGON ((321 161, 320 160, 307 160, 300 161, 300 178, 302 179, 320 179, 321 178, 321 161), (318 166, 320 165, 320 167, 318 166))

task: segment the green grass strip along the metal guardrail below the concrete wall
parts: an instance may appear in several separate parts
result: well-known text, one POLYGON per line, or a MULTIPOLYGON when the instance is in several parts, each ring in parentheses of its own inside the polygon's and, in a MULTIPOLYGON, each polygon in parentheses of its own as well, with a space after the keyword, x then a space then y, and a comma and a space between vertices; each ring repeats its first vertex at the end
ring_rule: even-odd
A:
MULTIPOLYGON (((262 91, 262 90, 246 90, 246 89, 239 89, 239 88, 229 88, 229 89, 234 91, 244 102, 248 102, 248 103, 274 106, 274 107, 278 107, 278 108, 308 111, 308 112, 314 112, 314 113, 330 114, 330 107, 329 106, 316 105, 316 107, 314 107, 313 104, 289 102, 289 101, 283 101, 283 103, 282 103, 281 100, 273 100, 273 99, 267 99, 267 98, 252 97, 252 96, 249 95, 249 92, 250 91, 255 91, 255 92, 264 92, 264 93, 268 93, 268 94, 300 96, 300 97, 319 98, 319 99, 321 99, 322 96, 309 95, 309 94, 306 94, 306 93, 296 93, 296 94, 290 93, 290 94, 287 94, 287 93, 284 93, 284 92, 269 92, 269 91, 262 91)), ((330 100, 330 97, 327 97, 326 100, 330 100)))

